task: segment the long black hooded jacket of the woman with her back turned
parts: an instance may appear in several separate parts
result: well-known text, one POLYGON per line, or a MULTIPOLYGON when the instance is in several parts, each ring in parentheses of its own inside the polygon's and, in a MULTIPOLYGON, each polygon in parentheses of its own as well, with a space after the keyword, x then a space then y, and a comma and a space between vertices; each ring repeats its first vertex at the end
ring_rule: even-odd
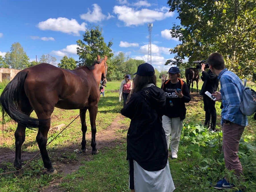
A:
POLYGON ((127 160, 147 171, 164 169, 168 160, 162 115, 166 97, 156 86, 133 93, 121 114, 131 119, 127 132, 127 160))

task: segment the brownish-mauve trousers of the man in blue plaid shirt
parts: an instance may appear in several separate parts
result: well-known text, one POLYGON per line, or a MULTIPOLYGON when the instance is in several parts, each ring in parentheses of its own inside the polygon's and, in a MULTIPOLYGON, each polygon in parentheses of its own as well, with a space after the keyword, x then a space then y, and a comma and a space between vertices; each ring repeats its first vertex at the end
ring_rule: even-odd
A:
POLYGON ((228 170, 234 170, 239 177, 243 175, 243 168, 238 158, 239 140, 245 126, 236 123, 223 124, 222 126, 222 150, 224 153, 225 166, 228 170))

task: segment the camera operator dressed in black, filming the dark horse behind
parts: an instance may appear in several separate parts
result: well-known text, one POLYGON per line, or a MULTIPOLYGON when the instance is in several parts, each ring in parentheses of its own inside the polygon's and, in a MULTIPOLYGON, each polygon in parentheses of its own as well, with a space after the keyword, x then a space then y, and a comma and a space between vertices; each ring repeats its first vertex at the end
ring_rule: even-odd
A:
POLYGON ((216 108, 215 108, 215 101, 210 99, 207 95, 205 95, 205 92, 208 91, 211 94, 217 91, 217 87, 219 84, 218 76, 212 73, 211 70, 208 70, 208 72, 205 71, 205 64, 201 63, 201 70, 202 70, 202 76, 201 79, 204 81, 203 86, 201 88, 200 95, 203 95, 203 102, 204 102, 204 110, 205 110, 205 123, 204 126, 207 126, 209 128, 209 131, 215 132, 216 127, 216 108), (211 124, 210 124, 211 119, 211 124))

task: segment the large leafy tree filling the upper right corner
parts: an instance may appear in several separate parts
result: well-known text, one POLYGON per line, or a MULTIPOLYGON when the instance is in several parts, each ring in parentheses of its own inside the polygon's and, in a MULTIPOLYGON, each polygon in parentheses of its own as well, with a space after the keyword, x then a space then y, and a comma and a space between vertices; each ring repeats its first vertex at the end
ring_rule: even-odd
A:
POLYGON ((174 24, 170 33, 181 43, 170 50, 175 57, 166 64, 179 66, 189 58, 192 65, 218 51, 226 67, 240 77, 255 74, 255 0, 168 0, 168 5, 170 11, 177 11, 181 23, 174 24))

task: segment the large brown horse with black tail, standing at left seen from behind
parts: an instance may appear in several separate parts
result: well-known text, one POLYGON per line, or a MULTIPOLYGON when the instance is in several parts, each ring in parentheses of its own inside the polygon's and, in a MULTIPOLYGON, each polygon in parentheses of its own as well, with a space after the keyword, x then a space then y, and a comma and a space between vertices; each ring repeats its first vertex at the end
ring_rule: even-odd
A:
POLYGON ((90 113, 92 128, 92 154, 97 154, 95 134, 100 80, 106 82, 107 56, 97 60, 93 66, 65 70, 50 64, 41 63, 20 71, 3 90, 0 97, 1 110, 18 122, 15 131, 14 167, 21 169, 21 146, 25 140, 25 130, 37 128, 36 141, 40 149, 44 167, 48 174, 56 174, 49 159, 46 144, 54 107, 60 109, 80 109, 82 124, 82 152, 86 152, 85 133, 87 130, 85 113, 90 113), (38 119, 31 118, 35 111, 38 119))

